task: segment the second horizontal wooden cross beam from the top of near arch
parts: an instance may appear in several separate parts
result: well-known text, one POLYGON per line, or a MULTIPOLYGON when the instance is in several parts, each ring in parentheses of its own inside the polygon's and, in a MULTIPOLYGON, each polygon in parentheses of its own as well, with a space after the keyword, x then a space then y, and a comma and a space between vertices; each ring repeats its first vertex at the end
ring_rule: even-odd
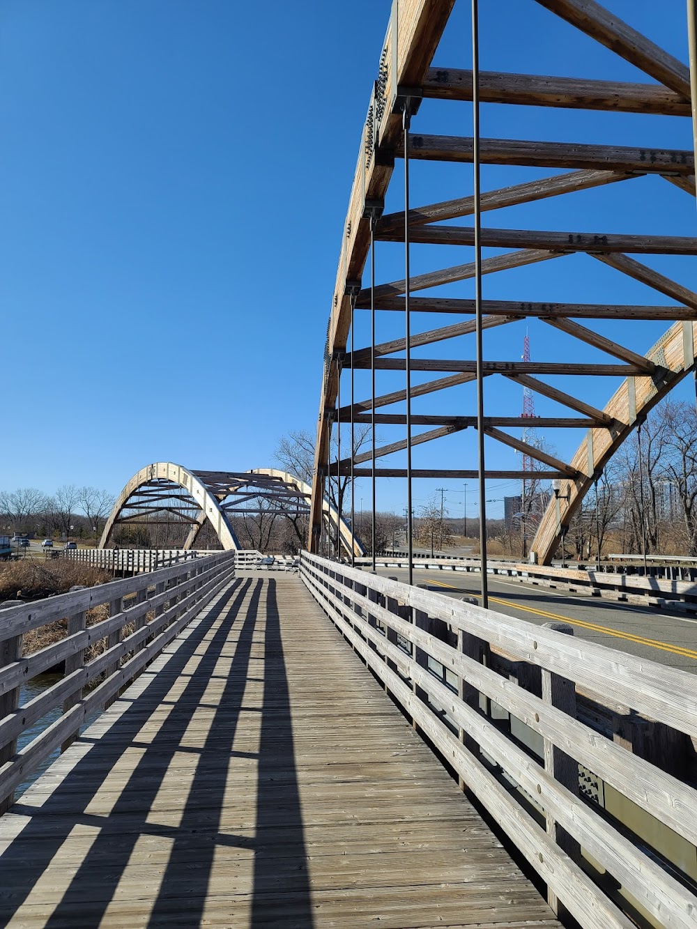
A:
MULTIPOLYGON (((409 137, 409 157, 429 162, 471 162, 472 137, 409 137)), ((653 149, 580 142, 547 142, 517 138, 482 138, 482 164, 519 164, 533 168, 601 168, 639 174, 694 174, 694 153, 687 149, 653 149)), ((395 154, 400 157, 403 147, 395 154)))

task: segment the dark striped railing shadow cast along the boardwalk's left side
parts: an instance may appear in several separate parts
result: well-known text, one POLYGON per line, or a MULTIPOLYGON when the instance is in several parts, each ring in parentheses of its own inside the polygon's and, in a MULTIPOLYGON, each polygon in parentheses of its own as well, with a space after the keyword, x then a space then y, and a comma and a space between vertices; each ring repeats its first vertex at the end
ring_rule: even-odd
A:
MULTIPOLYGON (((199 925, 214 865, 226 849, 246 849, 245 874, 223 869, 230 900, 244 900, 243 912, 230 903, 230 924, 283 921, 274 901, 292 895, 292 919, 284 924, 312 925, 276 582, 265 582, 260 603, 263 583, 233 582, 40 809, 31 805, 31 792, 12 808, 33 818, 0 857, 3 925, 128 925, 129 909, 132 926, 199 925), (177 695, 169 697, 173 688, 177 695), (253 747, 239 731, 247 713, 257 714, 251 739, 257 751, 233 751, 236 736, 253 747), (143 736, 145 728, 151 736, 143 736), (126 748, 135 752, 129 765, 126 748), (246 763, 242 773, 238 760, 246 763), (119 765, 123 777, 115 780, 112 768, 119 765), (93 812, 100 789, 105 801, 93 812), (246 809, 239 835, 221 826, 231 791, 245 792, 244 803, 237 800, 246 809), (112 922, 115 899, 120 915, 112 922)), ((81 744, 84 751, 85 741, 86 734, 73 751, 81 744)), ((226 825, 235 826, 230 817, 226 825)), ((217 870, 219 880, 219 862, 217 870)))

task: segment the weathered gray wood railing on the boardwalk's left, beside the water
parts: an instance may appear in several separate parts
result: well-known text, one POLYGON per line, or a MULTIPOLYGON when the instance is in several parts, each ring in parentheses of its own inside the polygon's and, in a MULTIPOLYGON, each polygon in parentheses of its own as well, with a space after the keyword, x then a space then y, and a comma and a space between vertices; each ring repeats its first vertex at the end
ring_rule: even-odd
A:
POLYGON ((12 804, 18 784, 59 746, 70 745, 85 719, 109 704, 233 575, 232 553, 220 552, 0 608, 0 813, 12 804), (108 618, 87 624, 87 611, 102 604, 109 606, 108 618), (62 619, 68 621, 65 638, 23 656, 26 633, 62 619), (85 649, 100 640, 106 648, 85 661, 85 649), (58 683, 20 705, 23 684, 63 663, 58 683), (59 719, 18 752, 20 734, 59 706, 59 719))

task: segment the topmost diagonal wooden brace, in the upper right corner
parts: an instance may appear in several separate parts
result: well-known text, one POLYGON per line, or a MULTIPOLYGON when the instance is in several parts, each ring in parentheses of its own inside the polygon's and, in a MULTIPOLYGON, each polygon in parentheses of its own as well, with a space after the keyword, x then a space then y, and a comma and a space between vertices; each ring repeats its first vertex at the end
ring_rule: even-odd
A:
POLYGON ((546 9, 567 20, 582 33, 612 49, 639 70, 680 96, 690 99, 690 71, 645 35, 620 20, 595 0, 537 0, 546 9))

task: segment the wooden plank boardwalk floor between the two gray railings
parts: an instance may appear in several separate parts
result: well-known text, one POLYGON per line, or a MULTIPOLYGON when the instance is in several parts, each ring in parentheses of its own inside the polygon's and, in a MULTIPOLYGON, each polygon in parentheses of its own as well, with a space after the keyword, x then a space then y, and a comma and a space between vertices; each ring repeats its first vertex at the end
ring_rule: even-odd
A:
POLYGON ((0 819, 0 924, 559 923, 296 576, 237 578, 0 819))

